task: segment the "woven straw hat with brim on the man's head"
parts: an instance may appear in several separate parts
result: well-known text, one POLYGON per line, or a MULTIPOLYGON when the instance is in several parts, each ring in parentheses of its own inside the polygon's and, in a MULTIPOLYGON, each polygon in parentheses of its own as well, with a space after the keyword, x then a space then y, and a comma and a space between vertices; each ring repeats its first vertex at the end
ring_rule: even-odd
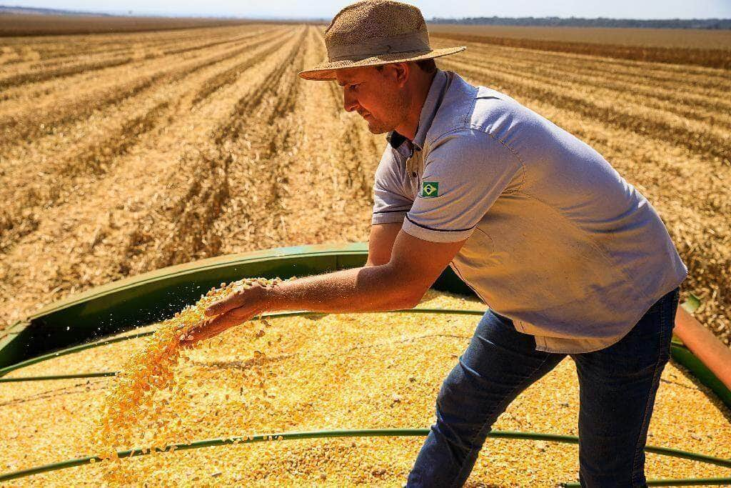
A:
POLYGON ((438 58, 463 51, 432 49, 417 7, 391 0, 365 0, 338 12, 325 31, 327 61, 300 72, 306 80, 334 80, 335 70, 438 58))

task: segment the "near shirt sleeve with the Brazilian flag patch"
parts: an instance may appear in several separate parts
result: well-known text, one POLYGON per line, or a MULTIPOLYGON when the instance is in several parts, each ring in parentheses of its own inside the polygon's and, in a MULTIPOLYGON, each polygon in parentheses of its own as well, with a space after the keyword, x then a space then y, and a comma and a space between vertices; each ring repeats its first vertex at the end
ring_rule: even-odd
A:
POLYGON ((431 242, 467 239, 495 200, 522 179, 523 163, 501 141, 477 129, 448 132, 426 154, 420 192, 402 230, 431 242))

